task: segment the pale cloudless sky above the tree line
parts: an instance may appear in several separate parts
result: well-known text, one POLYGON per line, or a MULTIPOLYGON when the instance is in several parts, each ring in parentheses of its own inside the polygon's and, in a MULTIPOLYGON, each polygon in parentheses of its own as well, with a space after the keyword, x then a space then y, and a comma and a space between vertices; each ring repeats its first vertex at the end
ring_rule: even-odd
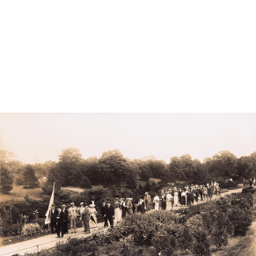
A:
POLYGON ((84 159, 119 149, 124 157, 190 154, 202 161, 220 150, 256 151, 256 113, 0 113, 0 150, 26 164, 58 161, 77 148, 84 159))

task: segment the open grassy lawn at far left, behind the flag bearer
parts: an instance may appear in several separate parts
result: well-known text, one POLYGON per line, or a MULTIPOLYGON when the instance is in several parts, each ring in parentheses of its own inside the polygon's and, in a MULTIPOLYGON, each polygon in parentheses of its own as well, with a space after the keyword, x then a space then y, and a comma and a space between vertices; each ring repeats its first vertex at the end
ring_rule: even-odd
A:
POLYGON ((10 194, 0 194, 0 202, 18 200, 25 201, 26 194, 32 199, 39 199, 42 190, 40 187, 24 189, 23 186, 13 185, 13 189, 10 194))

